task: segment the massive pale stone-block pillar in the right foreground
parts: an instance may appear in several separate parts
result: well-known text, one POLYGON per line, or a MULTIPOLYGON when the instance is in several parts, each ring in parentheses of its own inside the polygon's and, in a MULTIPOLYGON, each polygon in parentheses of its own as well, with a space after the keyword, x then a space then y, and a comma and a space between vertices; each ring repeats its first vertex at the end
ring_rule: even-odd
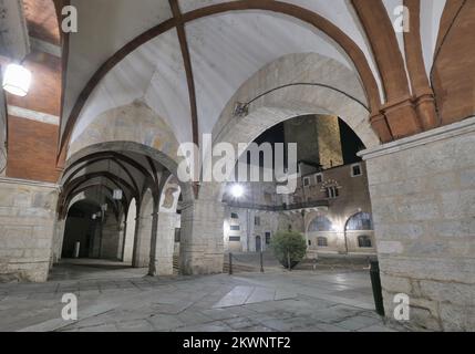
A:
POLYGON ((366 150, 384 306, 406 324, 475 330, 475 118, 366 150))

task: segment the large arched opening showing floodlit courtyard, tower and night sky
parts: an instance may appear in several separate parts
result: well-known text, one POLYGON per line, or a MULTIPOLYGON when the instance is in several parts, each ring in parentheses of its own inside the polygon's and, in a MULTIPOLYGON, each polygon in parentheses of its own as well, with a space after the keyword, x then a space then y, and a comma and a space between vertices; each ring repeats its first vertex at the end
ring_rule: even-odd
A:
MULTIPOLYGON (((365 237, 373 233, 350 231, 347 227, 351 228, 354 222, 348 220, 357 214, 371 215, 366 168, 358 157, 365 145, 334 115, 288 118, 269 127, 252 143, 221 186, 226 205, 225 251, 231 253, 234 269, 250 271, 252 264, 254 271, 259 272, 261 262, 264 269, 281 268, 273 258, 272 240, 277 233, 298 232, 304 239, 307 252, 297 269, 313 270, 314 277, 326 278, 328 291, 333 289, 332 283, 343 284, 350 279, 352 284, 359 284, 358 291, 339 295, 349 301, 355 296, 371 304, 368 270, 370 259, 376 258, 376 253, 365 237), (292 143, 295 156, 288 146, 292 143), (283 168, 277 166, 278 144, 285 145, 283 168), (297 165, 295 174, 290 164, 297 165), (242 166, 248 171, 256 167, 258 179, 248 173, 248 179, 242 181, 239 170, 242 166), (271 179, 266 179, 267 169, 271 179), (287 180, 278 178, 279 170, 288 171, 287 180), (289 190, 278 192, 278 187, 286 184, 289 190), (239 196, 234 192, 236 185, 242 189, 239 196)), ((373 240, 370 241, 373 246, 373 240)))

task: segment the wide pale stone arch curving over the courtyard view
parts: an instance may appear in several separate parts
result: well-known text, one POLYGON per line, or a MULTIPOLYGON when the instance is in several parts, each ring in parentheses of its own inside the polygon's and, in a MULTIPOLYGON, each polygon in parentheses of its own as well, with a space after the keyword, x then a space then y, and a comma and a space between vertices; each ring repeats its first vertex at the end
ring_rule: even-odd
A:
MULTIPOLYGON (((214 144, 250 144, 268 128, 290 118, 335 115, 366 148, 381 144, 370 123, 370 110, 359 76, 337 61, 317 53, 285 55, 264 66, 233 96, 217 122, 214 144), (236 116, 236 105, 246 114, 236 116)), ((204 184, 199 197, 221 200, 223 188, 204 184), (213 196, 213 197, 210 197, 213 196)))

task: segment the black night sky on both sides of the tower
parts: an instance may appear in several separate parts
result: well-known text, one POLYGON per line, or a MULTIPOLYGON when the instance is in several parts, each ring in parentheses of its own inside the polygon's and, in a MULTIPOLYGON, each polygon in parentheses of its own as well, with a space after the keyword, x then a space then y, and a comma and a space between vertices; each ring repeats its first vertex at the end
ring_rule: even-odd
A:
MULTIPOLYGON (((295 119, 299 118, 297 117, 295 119)), ((364 149, 364 144, 361 142, 358 135, 354 134, 354 132, 347 125, 347 123, 344 123, 342 119, 339 119, 339 123, 344 164, 348 165, 360 162, 361 158, 357 156, 357 153, 364 149)), ((278 124, 266 131, 266 133, 264 133, 256 139, 256 143, 285 143, 283 123, 278 124)), ((304 142, 296 143, 304 144, 304 142)))

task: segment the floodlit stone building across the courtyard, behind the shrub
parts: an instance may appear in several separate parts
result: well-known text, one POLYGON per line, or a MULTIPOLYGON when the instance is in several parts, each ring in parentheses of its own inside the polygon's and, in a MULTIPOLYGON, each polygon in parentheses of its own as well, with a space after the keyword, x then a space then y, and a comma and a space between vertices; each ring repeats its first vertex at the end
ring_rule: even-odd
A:
POLYGON ((375 254, 366 167, 343 165, 298 174, 291 195, 276 194, 276 184, 241 184, 242 198, 226 201, 225 249, 265 251, 278 231, 301 232, 308 256, 375 254))

